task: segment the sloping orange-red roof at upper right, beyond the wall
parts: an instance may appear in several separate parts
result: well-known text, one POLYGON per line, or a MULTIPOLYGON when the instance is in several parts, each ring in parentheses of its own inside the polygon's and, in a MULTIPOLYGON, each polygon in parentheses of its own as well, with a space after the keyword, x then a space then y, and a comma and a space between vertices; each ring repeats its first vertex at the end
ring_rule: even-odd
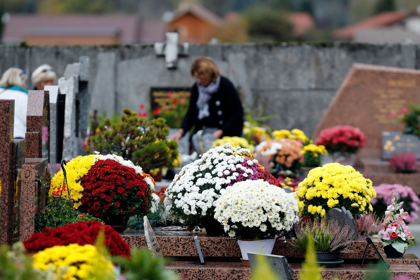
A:
POLYGON ((371 16, 370 18, 366 18, 362 21, 358 21, 344 28, 338 29, 334 32, 334 36, 337 38, 352 39, 354 35, 356 34, 356 32, 360 29, 390 26, 406 18, 409 18, 413 14, 416 14, 416 12, 408 12, 408 11, 383 12, 378 15, 371 16))

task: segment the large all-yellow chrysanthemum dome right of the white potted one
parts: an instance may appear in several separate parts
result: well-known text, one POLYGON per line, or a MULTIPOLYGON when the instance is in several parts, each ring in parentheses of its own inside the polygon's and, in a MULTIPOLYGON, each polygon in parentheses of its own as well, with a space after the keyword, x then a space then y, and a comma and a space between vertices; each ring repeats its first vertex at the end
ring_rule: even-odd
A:
POLYGON ((329 209, 341 207, 353 215, 372 211, 370 199, 376 196, 372 181, 352 166, 336 162, 310 170, 296 194, 303 217, 324 217, 329 209))

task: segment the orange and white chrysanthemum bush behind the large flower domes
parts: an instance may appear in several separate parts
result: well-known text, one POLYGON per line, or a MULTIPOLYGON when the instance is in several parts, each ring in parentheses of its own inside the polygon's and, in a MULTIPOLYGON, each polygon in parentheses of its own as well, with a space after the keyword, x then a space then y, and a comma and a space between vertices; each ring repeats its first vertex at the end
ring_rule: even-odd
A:
POLYGON ((255 148, 255 152, 269 160, 270 167, 275 170, 273 175, 277 177, 280 171, 299 171, 303 162, 302 149, 303 144, 300 140, 282 138, 261 142, 255 148))

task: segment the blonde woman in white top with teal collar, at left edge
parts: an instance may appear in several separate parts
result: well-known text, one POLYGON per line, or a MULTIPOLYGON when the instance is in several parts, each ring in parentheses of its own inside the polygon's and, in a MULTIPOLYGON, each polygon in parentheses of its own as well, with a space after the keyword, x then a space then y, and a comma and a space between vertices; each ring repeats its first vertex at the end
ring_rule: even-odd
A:
POLYGON ((26 90, 26 74, 24 70, 9 68, 4 72, 0 80, 0 99, 15 100, 13 138, 25 138, 28 91, 26 90))

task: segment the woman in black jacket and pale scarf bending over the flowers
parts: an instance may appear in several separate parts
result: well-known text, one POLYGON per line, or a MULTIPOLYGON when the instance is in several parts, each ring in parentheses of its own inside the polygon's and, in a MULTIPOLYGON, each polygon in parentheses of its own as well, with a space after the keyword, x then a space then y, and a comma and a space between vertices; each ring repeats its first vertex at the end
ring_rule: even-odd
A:
POLYGON ((231 81, 221 76, 213 59, 201 57, 191 65, 191 75, 197 80, 191 89, 188 111, 181 128, 173 139, 179 141, 195 126, 194 133, 204 129, 214 139, 223 136, 241 136, 244 111, 236 89, 231 81))

